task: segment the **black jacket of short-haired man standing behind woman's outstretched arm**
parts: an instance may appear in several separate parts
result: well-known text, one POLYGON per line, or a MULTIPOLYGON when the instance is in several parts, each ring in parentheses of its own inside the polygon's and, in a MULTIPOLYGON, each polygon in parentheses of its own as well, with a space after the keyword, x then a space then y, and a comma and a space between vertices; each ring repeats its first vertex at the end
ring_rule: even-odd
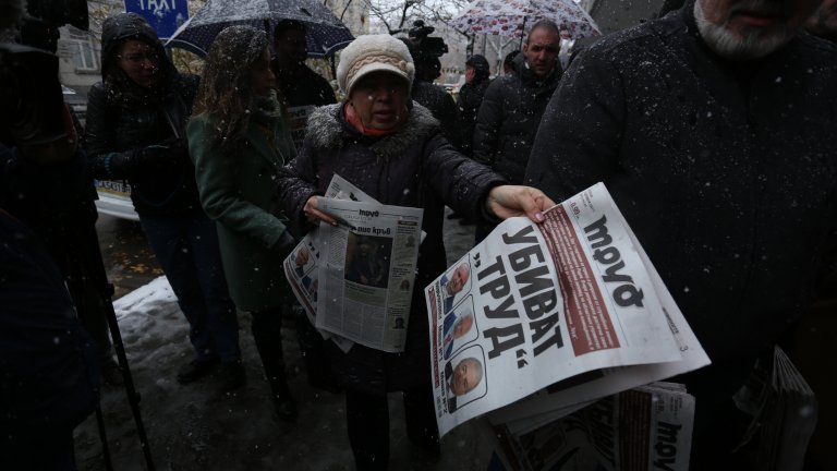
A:
POLYGON ((538 80, 525 59, 523 53, 518 55, 518 73, 495 78, 488 85, 473 135, 474 159, 515 184, 523 181, 541 116, 563 73, 557 63, 549 76, 538 80))

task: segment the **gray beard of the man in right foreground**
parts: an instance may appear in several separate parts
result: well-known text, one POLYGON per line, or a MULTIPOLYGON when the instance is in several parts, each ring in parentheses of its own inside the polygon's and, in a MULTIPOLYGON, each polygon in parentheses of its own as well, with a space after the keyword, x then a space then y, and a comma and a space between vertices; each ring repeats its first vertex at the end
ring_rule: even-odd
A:
POLYGON ((760 35, 754 28, 744 28, 744 37, 740 37, 726 25, 716 25, 706 20, 701 3, 702 0, 694 2, 698 31, 709 49, 727 59, 757 59, 774 52, 796 36, 796 32, 788 28, 772 35, 760 35))

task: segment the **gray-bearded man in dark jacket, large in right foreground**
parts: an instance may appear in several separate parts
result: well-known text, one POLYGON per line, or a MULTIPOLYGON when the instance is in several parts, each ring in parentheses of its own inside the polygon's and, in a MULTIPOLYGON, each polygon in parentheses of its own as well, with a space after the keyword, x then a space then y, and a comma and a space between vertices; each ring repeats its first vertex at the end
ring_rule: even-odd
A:
POLYGON ((605 182, 713 361, 678 378, 692 469, 733 468, 730 397, 802 312, 837 221, 837 49, 798 35, 820 1, 692 0, 604 38, 533 147, 526 181, 556 201, 605 182))

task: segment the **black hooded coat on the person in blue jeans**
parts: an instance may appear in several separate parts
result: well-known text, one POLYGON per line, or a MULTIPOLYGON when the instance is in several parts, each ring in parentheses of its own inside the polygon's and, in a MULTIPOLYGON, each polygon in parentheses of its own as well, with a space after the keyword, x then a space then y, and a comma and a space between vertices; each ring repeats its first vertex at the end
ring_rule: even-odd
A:
POLYGON ((178 73, 154 31, 136 19, 106 22, 102 29, 104 82, 87 96, 90 172, 100 180, 128 180, 141 216, 201 210, 185 135, 198 77, 178 73), (134 38, 157 49, 165 78, 154 89, 137 86, 116 64, 118 45, 134 38), (167 149, 149 149, 158 145, 167 149))

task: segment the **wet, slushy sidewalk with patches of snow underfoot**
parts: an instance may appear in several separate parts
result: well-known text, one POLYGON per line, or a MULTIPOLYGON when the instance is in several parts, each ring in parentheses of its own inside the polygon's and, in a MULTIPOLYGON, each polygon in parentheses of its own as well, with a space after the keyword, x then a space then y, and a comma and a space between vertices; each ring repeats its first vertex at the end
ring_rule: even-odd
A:
MULTIPOLYGON (((446 220, 449 264, 473 243, 473 226, 458 222, 446 220)), ((114 307, 157 469, 354 469, 343 396, 308 387, 290 323, 282 331, 282 342, 290 386, 300 404, 300 415, 291 424, 274 419, 248 315, 240 315, 247 384, 235 394, 220 395, 211 377, 187 386, 174 379, 192 354, 186 322, 165 278, 118 300, 114 307)), ((145 469, 124 389, 106 387, 101 408, 113 469, 145 469)), ((390 396, 390 470, 484 471, 493 446, 484 420, 474 420, 445 436, 441 457, 429 462, 407 439, 400 397, 390 396)), ((95 415, 76 428, 75 450, 80 470, 105 469, 95 415)))

